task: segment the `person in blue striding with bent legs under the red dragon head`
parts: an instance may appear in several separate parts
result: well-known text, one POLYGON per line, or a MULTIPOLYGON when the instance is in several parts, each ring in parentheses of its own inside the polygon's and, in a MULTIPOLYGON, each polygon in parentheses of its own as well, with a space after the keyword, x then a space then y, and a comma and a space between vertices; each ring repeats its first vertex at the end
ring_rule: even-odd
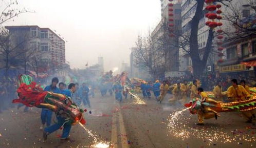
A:
MULTIPOLYGON (((73 94, 76 92, 76 84, 74 83, 70 83, 68 85, 68 90, 66 90, 66 95, 70 98, 73 97, 73 94)), ((71 100, 72 101, 72 100, 71 100)), ((62 111, 62 110, 60 110, 62 111)), ((65 141, 65 140, 70 140, 68 138, 70 129, 72 124, 69 122, 69 118, 67 118, 65 115, 63 115, 61 112, 56 112, 56 116, 58 119, 58 122, 48 126, 47 128, 44 129, 43 132, 43 138, 44 140, 47 140, 47 136, 57 130, 59 130, 61 128, 61 126, 63 126, 63 131, 62 131, 62 136, 61 136, 61 140, 65 141)))

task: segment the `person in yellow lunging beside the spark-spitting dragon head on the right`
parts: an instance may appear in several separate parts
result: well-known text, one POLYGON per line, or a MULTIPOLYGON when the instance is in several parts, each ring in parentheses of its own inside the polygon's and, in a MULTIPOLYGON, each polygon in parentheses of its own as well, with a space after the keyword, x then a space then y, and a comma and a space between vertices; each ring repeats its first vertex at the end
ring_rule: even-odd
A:
POLYGON ((212 110, 208 106, 204 105, 204 103, 221 103, 222 101, 215 101, 214 99, 211 99, 208 97, 207 93, 204 92, 203 88, 197 89, 198 95, 200 96, 200 102, 202 103, 202 109, 197 111, 197 117, 198 117, 198 123, 197 125, 204 125, 204 119, 210 119, 215 117, 220 117, 220 114, 218 114, 216 111, 212 110))

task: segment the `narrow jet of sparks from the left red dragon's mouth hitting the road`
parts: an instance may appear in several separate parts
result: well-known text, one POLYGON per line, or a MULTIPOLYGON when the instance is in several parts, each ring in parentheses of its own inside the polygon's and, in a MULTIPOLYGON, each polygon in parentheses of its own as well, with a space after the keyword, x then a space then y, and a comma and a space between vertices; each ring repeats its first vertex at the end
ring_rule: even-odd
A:
POLYGON ((88 130, 85 128, 85 126, 82 123, 79 123, 79 125, 84 129, 84 131, 86 131, 89 134, 89 137, 92 137, 93 140, 93 144, 91 147, 92 148, 108 148, 110 143, 106 142, 106 141, 100 141, 99 138, 92 133, 92 131, 88 130))

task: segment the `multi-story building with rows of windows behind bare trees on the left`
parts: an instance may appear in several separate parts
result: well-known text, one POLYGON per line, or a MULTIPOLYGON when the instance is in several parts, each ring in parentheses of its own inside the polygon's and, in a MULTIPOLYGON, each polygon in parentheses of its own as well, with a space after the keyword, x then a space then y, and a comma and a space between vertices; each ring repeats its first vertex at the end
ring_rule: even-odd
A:
MULTIPOLYGON (((65 41, 49 28, 39 26, 6 26, 14 41, 26 41, 23 47, 48 66, 65 65, 65 41)), ((16 44, 19 44, 18 42, 16 44)))

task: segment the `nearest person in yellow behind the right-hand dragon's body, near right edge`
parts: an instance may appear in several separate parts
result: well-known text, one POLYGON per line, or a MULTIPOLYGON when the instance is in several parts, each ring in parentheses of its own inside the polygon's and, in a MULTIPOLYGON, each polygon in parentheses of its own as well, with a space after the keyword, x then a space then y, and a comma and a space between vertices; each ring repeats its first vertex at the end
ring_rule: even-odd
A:
MULTIPOLYGON (((231 80, 232 86, 227 90, 227 96, 229 99, 234 101, 242 101, 250 98, 250 94, 245 90, 245 88, 237 83, 236 79, 231 80)), ((247 119, 247 123, 252 122, 252 114, 250 111, 242 112, 244 117, 247 119)))

